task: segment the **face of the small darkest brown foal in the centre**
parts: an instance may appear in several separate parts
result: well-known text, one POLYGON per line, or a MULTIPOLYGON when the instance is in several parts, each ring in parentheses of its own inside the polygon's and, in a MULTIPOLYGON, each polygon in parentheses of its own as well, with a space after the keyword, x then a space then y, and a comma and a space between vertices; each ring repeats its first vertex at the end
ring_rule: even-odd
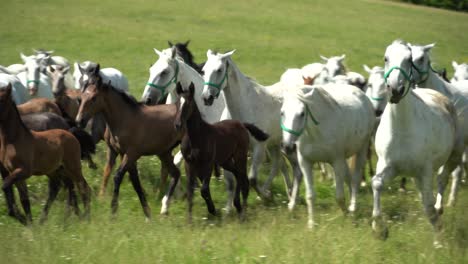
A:
POLYGON ((187 124, 187 120, 193 113, 195 100, 193 98, 195 86, 193 83, 189 86, 189 91, 183 91, 182 86, 180 83, 177 83, 176 86, 177 94, 183 98, 179 103, 179 107, 177 109, 176 118, 174 120, 174 126, 176 131, 182 131, 185 129, 187 124))

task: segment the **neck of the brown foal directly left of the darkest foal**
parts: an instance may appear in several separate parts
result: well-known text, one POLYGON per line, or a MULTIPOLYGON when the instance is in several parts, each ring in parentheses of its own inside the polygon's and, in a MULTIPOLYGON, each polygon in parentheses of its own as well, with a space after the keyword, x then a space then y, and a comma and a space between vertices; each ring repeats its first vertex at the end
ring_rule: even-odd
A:
POLYGON ((128 122, 122 122, 123 120, 137 118, 138 111, 132 109, 132 106, 111 87, 108 88, 107 96, 104 97, 104 105, 102 109, 104 119, 115 136, 118 136, 121 129, 128 130, 128 122))

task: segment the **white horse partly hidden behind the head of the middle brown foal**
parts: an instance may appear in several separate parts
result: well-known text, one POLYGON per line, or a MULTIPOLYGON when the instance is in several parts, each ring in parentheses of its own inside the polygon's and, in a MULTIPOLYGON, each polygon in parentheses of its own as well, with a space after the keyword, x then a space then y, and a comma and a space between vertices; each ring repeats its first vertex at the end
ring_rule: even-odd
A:
MULTIPOLYGON (((93 72, 96 67, 96 63, 91 61, 85 61, 83 63, 75 62, 73 64, 73 80, 75 83, 75 89, 82 89, 84 83, 89 78, 89 73, 93 72)), ((103 68, 99 71, 102 77, 102 81, 107 83, 111 81, 112 86, 115 88, 128 92, 128 79, 125 75, 115 68, 103 68)))

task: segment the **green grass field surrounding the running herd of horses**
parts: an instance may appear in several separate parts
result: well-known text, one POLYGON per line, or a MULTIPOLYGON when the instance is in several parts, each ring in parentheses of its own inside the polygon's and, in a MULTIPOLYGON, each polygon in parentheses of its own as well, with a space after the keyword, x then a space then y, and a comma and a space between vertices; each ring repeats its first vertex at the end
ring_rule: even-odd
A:
MULTIPOLYGON (((452 60, 468 61, 468 14, 374 0, 239 0, 239 1, 58 1, 3 0, 0 17, 0 64, 19 63, 19 52, 54 49, 75 60, 93 60, 121 69, 130 90, 141 96, 148 66, 157 56, 152 48, 167 40, 191 40, 197 62, 208 48, 237 49, 233 56, 242 71, 260 83, 271 84, 288 67, 318 61, 319 55, 345 53, 350 69, 382 64, 385 47, 394 39, 412 43, 436 42, 436 68, 452 60)), ((94 190, 104 164, 84 168, 94 190)), ((262 171, 263 180, 268 165, 262 171)), ((64 203, 52 207, 49 221, 25 228, 6 216, 0 194, 0 263, 467 263, 468 188, 443 216, 444 248, 432 247, 432 228, 419 196, 397 191, 392 183, 383 195, 383 212, 390 228, 387 241, 375 239, 370 228, 372 192, 363 188, 358 211, 343 216, 334 201, 331 182, 317 180, 318 226, 306 229, 306 209, 300 203, 287 211, 282 180, 274 184, 275 201, 249 201, 248 220, 235 216, 207 219, 197 194, 194 223, 187 224, 183 200, 171 206, 170 216, 158 215, 153 192, 159 161, 142 158, 140 177, 153 210, 145 223, 138 199, 127 181, 121 188, 116 219, 110 218, 110 197, 92 200, 91 223, 72 218, 63 222, 64 203)), ((29 181, 33 216, 45 202, 46 178, 29 181)), ((225 202, 224 183, 212 181, 217 208, 225 202)), ((97 192, 95 192, 97 193, 97 192)), ((303 192, 302 192, 303 193, 303 192)), ((63 195, 63 194, 62 194, 63 195)), ((302 195, 303 197, 303 195, 302 195)), ((63 197, 62 197, 63 198, 63 197)))

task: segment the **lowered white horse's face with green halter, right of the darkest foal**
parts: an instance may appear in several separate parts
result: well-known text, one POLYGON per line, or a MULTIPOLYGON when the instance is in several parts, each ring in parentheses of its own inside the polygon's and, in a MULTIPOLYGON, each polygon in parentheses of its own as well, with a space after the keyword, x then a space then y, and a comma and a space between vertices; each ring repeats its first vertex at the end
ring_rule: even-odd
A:
POLYGON ((284 152, 292 153, 296 149, 296 141, 306 126, 306 107, 295 95, 286 95, 281 107, 281 129, 283 139, 281 147, 284 152))

